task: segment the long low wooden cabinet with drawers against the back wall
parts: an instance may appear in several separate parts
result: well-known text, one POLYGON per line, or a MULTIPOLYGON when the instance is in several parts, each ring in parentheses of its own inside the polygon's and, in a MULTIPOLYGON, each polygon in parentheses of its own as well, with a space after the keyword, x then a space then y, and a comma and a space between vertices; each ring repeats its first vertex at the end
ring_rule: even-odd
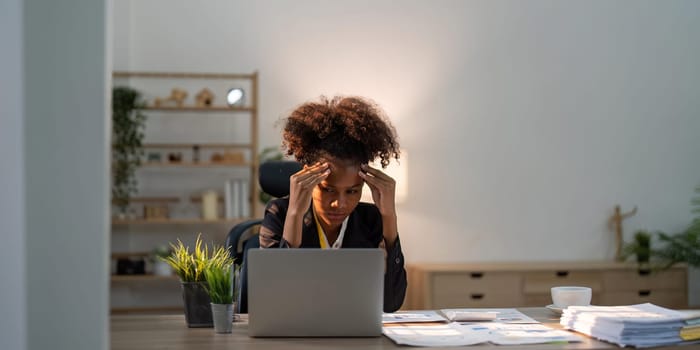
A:
POLYGON ((594 305, 688 306, 685 266, 645 273, 615 262, 408 264, 407 272, 406 310, 545 306, 550 288, 563 285, 591 287, 594 305))

